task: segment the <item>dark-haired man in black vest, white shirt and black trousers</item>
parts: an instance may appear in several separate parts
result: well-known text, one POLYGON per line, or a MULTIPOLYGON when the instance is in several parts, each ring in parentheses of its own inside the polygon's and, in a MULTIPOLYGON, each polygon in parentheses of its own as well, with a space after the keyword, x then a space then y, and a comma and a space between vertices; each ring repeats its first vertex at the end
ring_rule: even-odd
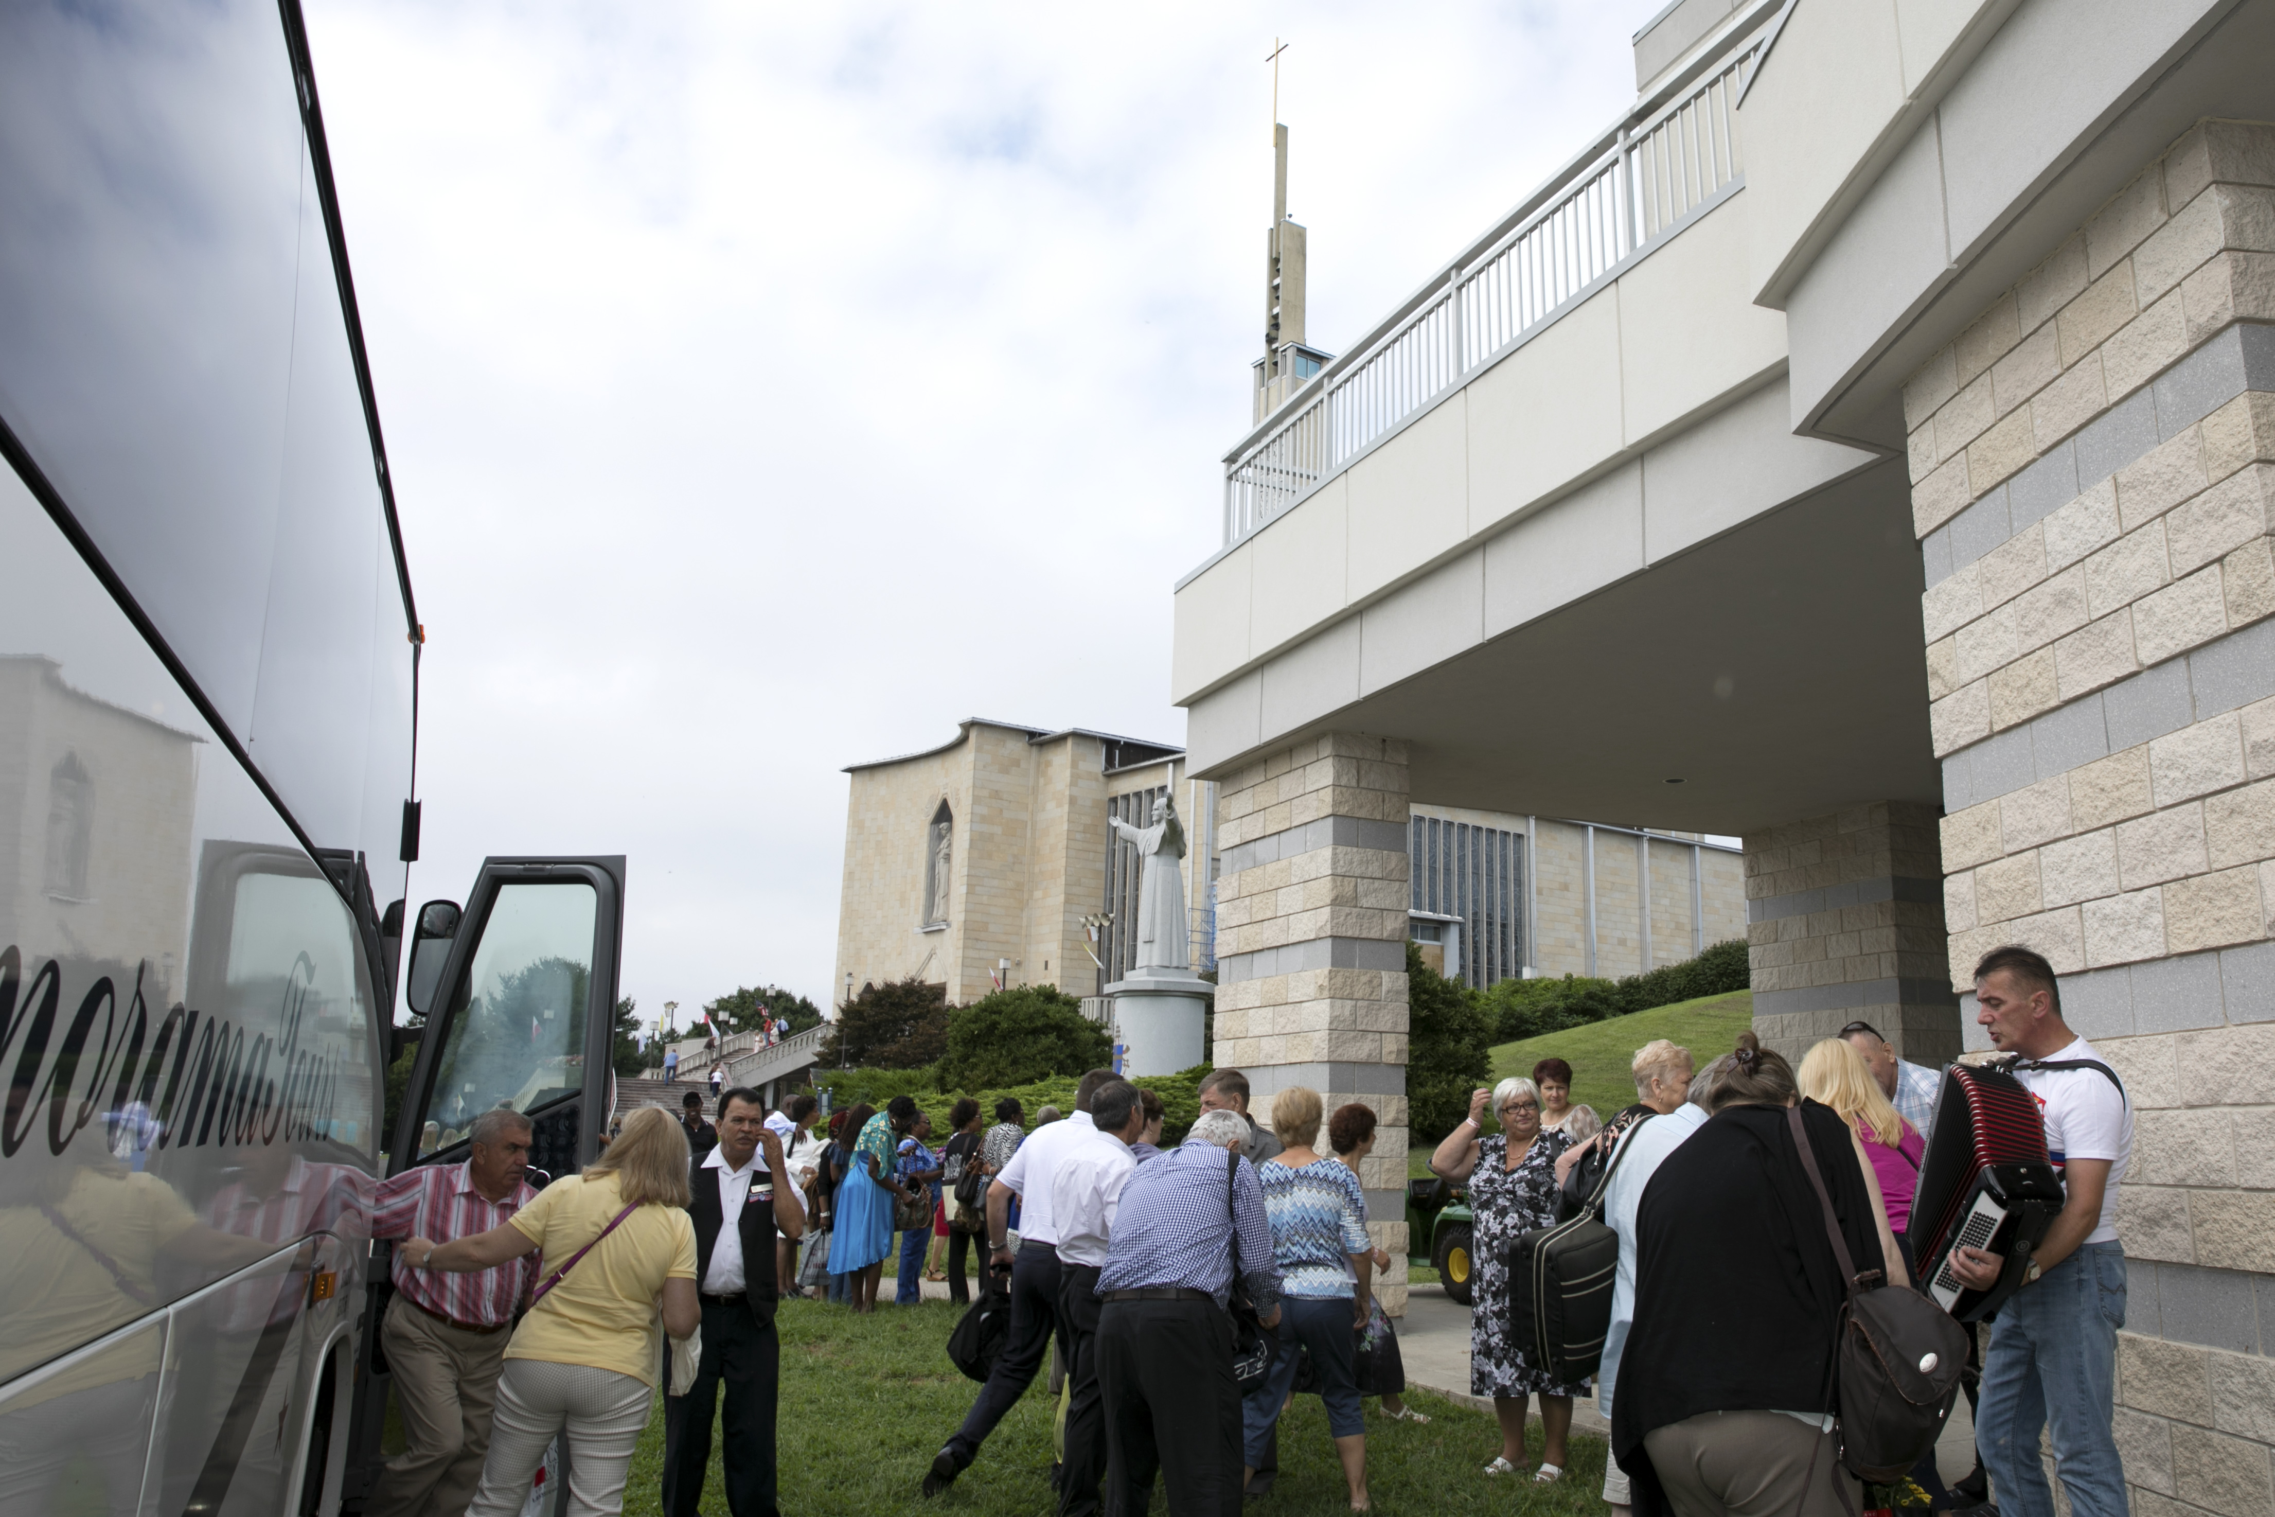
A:
POLYGON ((805 1208, 789 1189, 767 1101, 737 1085, 719 1096, 719 1146, 687 1174, 703 1294, 703 1365, 685 1396, 664 1396, 664 1515, 696 1517, 710 1469, 712 1410, 726 1383, 726 1506, 776 1517, 774 1399, 783 1344, 774 1333, 774 1237, 792 1242, 805 1208))

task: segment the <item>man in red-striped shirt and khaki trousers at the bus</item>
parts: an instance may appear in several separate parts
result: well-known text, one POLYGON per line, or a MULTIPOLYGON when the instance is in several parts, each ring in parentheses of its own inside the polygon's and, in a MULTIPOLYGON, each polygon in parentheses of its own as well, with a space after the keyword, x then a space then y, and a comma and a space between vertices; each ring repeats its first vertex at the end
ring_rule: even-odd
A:
MULTIPOLYGON (((505 1108, 482 1112, 464 1164, 421 1164, 380 1185, 373 1237, 430 1237, 446 1244, 507 1221, 537 1192, 530 1119, 505 1108)), ((396 1299, 380 1326, 396 1403, 410 1446, 387 1460, 369 1517, 462 1517, 489 1453, 489 1412, 505 1367, 514 1312, 537 1285, 537 1255, 469 1274, 412 1269, 396 1253, 396 1299)))

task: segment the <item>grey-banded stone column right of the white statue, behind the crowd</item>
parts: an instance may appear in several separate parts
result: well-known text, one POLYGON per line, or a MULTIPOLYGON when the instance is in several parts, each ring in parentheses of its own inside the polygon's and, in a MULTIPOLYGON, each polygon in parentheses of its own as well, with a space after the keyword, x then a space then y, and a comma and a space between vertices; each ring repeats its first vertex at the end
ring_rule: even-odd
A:
MULTIPOLYGON (((1324 1110, 1374 1108, 1360 1164, 1367 1230, 1392 1258, 1381 1301, 1406 1312, 1406 744, 1326 737, 1217 789, 1217 1026, 1210 1062, 1324 1110)), ((1326 1135, 1320 1135, 1322 1146, 1326 1135)))

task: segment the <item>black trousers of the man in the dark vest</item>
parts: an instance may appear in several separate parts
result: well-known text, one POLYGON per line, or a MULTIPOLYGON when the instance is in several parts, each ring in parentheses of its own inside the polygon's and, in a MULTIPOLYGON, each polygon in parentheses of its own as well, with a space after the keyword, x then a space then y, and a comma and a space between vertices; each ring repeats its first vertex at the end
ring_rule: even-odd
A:
POLYGON ((739 1296, 703 1296, 703 1365, 685 1396, 664 1396, 664 1517, 696 1517, 710 1469, 712 1410, 726 1383, 726 1510, 776 1517, 774 1399, 783 1340, 739 1296))

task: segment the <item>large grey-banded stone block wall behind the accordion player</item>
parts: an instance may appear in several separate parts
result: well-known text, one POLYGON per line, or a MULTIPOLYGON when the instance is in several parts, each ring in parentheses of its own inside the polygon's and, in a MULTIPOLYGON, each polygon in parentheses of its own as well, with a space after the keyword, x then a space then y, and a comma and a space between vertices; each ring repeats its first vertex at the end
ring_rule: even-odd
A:
POLYGON ((2002 942, 2045 953, 2138 1112, 2118 1437, 2143 1515, 2275 1510, 2261 323, 2275 127, 2209 121, 1904 391, 1947 978, 2002 942))

